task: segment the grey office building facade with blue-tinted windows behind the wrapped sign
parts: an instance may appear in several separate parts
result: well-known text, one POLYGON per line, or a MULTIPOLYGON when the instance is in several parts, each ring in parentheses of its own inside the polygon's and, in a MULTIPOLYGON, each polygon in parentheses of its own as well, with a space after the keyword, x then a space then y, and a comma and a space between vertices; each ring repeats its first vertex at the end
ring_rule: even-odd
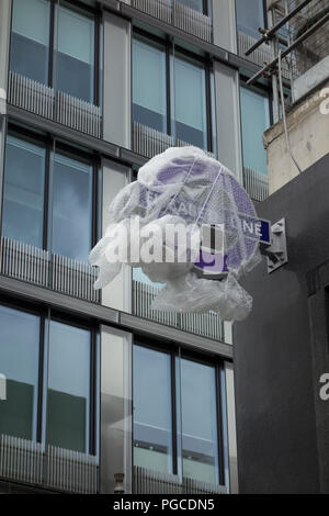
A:
POLYGON ((268 195, 252 0, 2 0, 0 492, 238 492, 231 325, 150 311, 90 249, 138 168, 195 145, 268 195))

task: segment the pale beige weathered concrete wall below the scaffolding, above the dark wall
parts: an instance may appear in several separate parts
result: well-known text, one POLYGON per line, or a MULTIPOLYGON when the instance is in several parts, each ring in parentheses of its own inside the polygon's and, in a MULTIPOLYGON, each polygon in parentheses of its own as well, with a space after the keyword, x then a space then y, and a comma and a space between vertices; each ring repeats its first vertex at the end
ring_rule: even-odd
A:
MULTIPOLYGON (((329 82, 325 87, 328 88, 329 82)), ((291 147, 302 170, 329 152, 329 114, 320 112, 320 105, 326 101, 321 91, 322 88, 300 101, 287 115, 291 147)), ((268 150, 270 193, 273 193, 299 172, 287 152, 283 122, 265 132, 264 144, 268 150)))

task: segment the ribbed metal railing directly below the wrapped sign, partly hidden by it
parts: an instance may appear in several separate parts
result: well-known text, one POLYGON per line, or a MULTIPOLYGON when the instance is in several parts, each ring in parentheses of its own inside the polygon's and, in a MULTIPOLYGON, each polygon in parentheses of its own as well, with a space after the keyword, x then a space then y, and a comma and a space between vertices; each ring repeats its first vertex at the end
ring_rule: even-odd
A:
POLYGON ((140 281, 133 282, 134 315, 155 321, 156 323, 174 326, 214 340, 224 340, 224 323, 214 312, 206 314, 189 314, 161 312, 151 310, 150 305, 159 290, 140 281))

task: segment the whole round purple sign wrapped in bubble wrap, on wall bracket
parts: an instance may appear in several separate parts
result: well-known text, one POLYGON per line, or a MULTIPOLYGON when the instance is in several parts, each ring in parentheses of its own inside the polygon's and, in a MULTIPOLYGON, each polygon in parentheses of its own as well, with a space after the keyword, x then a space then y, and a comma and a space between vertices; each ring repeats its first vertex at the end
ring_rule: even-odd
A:
POLYGON ((195 147, 170 148, 140 168, 110 212, 114 224, 90 254, 100 268, 95 288, 127 263, 166 283, 154 310, 248 315, 252 300, 238 279, 260 261, 270 229, 218 161, 195 147))

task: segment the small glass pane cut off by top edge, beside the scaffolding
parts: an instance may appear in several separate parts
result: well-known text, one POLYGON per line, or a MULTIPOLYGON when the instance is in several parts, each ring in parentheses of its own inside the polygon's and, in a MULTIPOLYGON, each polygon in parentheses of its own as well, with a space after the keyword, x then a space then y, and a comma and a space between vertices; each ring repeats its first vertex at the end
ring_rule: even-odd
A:
POLYGON ((264 26, 263 0, 236 0, 238 31, 260 37, 259 27, 264 26))

